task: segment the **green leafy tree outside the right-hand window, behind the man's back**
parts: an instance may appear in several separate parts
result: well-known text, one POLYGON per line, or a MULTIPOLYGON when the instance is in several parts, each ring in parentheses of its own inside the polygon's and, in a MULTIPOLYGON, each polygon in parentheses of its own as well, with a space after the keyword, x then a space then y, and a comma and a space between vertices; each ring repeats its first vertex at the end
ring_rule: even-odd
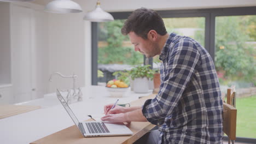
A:
POLYGON ((230 80, 255 81, 255 50, 245 42, 248 22, 242 16, 221 16, 216 19, 216 69, 224 70, 230 80))

